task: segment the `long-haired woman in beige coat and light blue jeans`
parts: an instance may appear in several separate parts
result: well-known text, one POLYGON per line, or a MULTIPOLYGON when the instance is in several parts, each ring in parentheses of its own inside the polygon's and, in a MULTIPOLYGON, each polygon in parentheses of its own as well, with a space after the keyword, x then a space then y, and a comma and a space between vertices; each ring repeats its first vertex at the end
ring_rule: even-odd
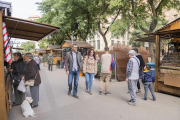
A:
POLYGON ((88 54, 84 60, 83 64, 83 73, 86 78, 86 92, 92 95, 92 85, 94 75, 97 74, 97 62, 96 62, 96 54, 93 49, 88 51, 88 54))

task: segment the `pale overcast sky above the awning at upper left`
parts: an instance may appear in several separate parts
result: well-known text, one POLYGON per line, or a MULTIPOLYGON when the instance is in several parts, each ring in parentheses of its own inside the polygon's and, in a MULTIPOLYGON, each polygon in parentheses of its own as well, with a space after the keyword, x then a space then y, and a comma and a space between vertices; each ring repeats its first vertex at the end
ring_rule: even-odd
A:
POLYGON ((12 17, 28 19, 29 16, 39 15, 40 11, 37 10, 36 2, 42 2, 42 0, 2 0, 11 2, 12 5, 12 17))

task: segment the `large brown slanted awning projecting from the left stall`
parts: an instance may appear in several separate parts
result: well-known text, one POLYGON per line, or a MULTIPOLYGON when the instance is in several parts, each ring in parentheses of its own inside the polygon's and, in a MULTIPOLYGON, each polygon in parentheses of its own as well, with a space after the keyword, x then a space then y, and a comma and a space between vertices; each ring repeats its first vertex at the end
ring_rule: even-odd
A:
POLYGON ((3 16, 9 37, 39 41, 60 27, 3 16), (14 31, 14 32, 13 32, 14 31))

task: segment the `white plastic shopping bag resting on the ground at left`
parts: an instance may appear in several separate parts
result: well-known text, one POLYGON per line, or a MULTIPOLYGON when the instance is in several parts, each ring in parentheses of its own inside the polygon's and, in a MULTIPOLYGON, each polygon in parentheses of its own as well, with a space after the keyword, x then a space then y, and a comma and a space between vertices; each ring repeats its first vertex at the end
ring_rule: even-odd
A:
POLYGON ((25 117, 29 117, 29 116, 35 117, 34 111, 27 100, 23 101, 23 103, 21 104, 21 109, 25 117))

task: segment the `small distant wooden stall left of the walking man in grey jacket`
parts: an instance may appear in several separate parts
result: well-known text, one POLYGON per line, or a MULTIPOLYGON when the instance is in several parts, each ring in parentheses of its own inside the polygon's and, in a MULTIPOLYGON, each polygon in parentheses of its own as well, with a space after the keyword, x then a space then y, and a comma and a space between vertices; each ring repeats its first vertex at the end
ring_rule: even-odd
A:
POLYGON ((57 60, 61 60, 61 49, 60 45, 48 45, 46 48, 46 53, 51 54, 54 57, 53 64, 57 63, 57 60))

